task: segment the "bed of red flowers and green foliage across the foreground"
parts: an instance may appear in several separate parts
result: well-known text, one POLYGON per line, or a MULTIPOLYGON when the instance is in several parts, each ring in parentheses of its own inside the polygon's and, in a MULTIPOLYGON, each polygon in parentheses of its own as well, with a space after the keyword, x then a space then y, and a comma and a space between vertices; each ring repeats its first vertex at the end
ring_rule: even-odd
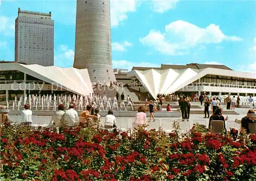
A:
POLYGON ((1 180, 256 180, 256 136, 5 125, 1 180))

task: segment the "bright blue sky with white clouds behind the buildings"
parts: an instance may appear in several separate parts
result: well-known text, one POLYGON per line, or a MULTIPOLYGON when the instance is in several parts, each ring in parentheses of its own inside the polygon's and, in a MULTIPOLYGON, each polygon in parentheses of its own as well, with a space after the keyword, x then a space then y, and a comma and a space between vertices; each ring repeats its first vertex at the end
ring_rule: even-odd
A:
MULTIPOLYGON (((255 0, 110 1, 114 68, 205 63, 256 70, 255 0)), ((52 12, 54 65, 73 66, 76 0, 0 0, 0 60, 14 60, 18 7, 52 12)))

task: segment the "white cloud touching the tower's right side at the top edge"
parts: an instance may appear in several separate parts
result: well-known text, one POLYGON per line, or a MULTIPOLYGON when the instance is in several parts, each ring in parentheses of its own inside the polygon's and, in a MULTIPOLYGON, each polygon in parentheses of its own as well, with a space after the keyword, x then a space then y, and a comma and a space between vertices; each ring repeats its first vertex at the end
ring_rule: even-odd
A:
POLYGON ((136 10, 137 0, 111 0, 110 1, 110 14, 111 26, 116 27, 120 21, 127 19, 127 13, 136 10))

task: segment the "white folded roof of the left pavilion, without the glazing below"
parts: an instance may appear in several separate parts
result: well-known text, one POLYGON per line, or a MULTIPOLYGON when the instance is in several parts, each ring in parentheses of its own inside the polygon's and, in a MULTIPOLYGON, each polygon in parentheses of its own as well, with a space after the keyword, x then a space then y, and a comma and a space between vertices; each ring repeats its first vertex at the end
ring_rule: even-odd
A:
POLYGON ((42 81, 62 87, 70 92, 87 96, 93 93, 87 69, 58 66, 25 65, 20 63, 0 63, 0 71, 20 71, 42 81))

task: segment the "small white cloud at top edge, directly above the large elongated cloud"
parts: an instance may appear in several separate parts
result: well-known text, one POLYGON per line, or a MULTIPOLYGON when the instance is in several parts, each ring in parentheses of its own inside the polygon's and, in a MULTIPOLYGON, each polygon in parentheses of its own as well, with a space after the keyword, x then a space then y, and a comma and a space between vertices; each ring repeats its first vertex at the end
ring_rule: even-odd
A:
POLYGON ((151 9, 154 12, 163 13, 176 7, 179 0, 152 0, 151 9))

